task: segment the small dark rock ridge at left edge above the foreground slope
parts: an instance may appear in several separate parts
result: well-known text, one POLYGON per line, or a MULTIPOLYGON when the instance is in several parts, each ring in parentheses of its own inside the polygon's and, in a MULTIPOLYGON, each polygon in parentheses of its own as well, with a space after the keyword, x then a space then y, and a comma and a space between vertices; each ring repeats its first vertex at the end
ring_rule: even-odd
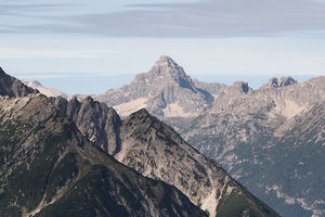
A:
POLYGON ((21 80, 10 75, 6 75, 0 67, 0 95, 8 95, 10 98, 14 98, 25 97, 32 92, 38 91, 24 85, 21 80))

